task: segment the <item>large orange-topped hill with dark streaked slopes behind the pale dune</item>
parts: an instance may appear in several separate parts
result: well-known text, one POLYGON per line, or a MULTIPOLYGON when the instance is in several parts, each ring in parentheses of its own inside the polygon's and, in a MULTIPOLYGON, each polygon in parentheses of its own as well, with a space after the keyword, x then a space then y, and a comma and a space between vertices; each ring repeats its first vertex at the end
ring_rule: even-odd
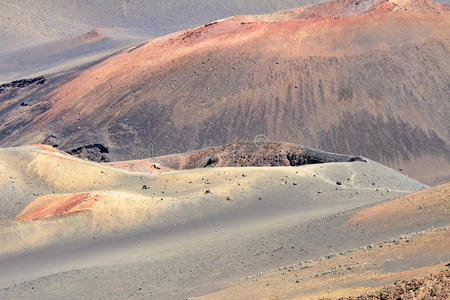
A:
POLYGON ((3 91, 0 143, 55 136, 127 160, 264 134, 444 182, 449 15, 431 1, 346 0, 178 32, 3 91))

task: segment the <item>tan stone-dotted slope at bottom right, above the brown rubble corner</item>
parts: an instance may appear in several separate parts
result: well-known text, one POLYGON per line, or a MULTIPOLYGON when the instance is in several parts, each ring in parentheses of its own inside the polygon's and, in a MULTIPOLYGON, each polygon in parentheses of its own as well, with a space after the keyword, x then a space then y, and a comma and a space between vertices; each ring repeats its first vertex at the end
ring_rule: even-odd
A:
POLYGON ((405 259, 422 255, 449 256, 450 231, 405 237, 329 259, 303 262, 291 268, 243 280, 233 287, 198 299, 319 299, 356 297, 397 280, 420 278, 446 270, 441 264, 407 268, 405 259))

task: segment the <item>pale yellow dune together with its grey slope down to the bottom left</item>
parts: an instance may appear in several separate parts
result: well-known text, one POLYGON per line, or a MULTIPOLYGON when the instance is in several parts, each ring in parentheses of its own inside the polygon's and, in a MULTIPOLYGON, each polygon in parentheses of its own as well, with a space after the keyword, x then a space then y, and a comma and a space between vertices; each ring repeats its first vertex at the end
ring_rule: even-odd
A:
POLYGON ((370 160, 157 174, 40 145, 1 149, 0 157, 6 299, 200 296, 251 274, 448 222, 448 201, 437 196, 421 217, 412 209, 368 219, 378 206, 358 207, 425 188, 370 160))

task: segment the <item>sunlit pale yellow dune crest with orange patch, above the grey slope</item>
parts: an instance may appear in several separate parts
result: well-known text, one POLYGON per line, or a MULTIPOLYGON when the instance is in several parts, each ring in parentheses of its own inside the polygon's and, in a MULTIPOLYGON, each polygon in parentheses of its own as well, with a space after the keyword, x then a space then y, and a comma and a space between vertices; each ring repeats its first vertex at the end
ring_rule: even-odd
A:
MULTIPOLYGON (((293 145, 285 147, 301 149, 293 145)), ((204 160, 201 153, 168 156, 158 161, 176 169, 192 164, 191 167, 195 167, 196 160, 191 156, 204 160)), ((210 151, 205 150, 205 153, 210 151)), ((212 153, 223 157, 225 165, 229 157, 241 157, 242 154, 233 151, 212 153)), ((279 154, 275 151, 264 157, 261 153, 256 155, 257 159, 270 160, 273 155, 279 154)), ((249 159, 254 158, 250 156, 249 159)), ((284 156, 282 159, 285 159, 284 156)), ((346 161, 349 158, 342 156, 342 159, 346 161)), ((139 166, 141 164, 142 161, 139 166)), ((314 203, 314 199, 318 198, 334 202, 342 198, 343 202, 338 200, 336 203, 346 206, 347 199, 349 203, 379 201, 423 187, 381 165, 363 162, 278 168, 203 168, 162 174, 148 173, 148 170, 142 169, 140 171, 144 173, 130 172, 111 167, 114 165, 81 160, 45 145, 2 149, 0 185, 4 192, 0 199, 0 212, 6 226, 0 228, 0 235, 9 242, 0 254, 70 240, 74 232, 78 232, 79 238, 98 231, 101 233, 97 235, 108 236, 114 232, 130 232, 167 222, 164 216, 173 209, 184 209, 181 214, 188 219, 203 218, 204 215, 226 213, 240 206, 245 209, 254 199, 270 199, 275 195, 285 195, 283 201, 293 202, 298 192, 304 193, 300 201, 311 198, 308 201, 314 203), (369 177, 365 178, 366 175, 369 177), (380 181, 377 176, 393 176, 396 179, 386 182, 380 181), (342 182, 338 186, 342 195, 335 188, 337 181, 342 182), (372 186, 372 181, 376 181, 377 185, 372 186), (280 190, 283 187, 284 190, 280 190), (276 193, 277 190, 280 194, 276 193), (356 191, 360 195, 354 195, 356 191), (373 198, 367 194, 370 199, 364 199, 366 193, 376 196, 373 198), (241 198, 245 200, 241 201, 241 198), (207 209, 202 211, 201 205, 206 205, 207 209), (19 222, 11 222, 13 219, 19 222), (61 228, 67 229, 61 231, 61 228)), ((325 205, 322 208, 322 203, 316 206, 319 211, 333 209, 331 203, 329 207, 325 205)))

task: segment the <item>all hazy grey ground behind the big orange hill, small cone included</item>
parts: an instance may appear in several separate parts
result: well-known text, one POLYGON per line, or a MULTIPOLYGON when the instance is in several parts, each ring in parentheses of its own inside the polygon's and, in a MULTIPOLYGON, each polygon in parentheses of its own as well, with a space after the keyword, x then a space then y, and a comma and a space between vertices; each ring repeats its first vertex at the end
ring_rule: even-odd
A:
POLYGON ((0 84, 97 61, 151 37, 238 14, 268 13, 317 0, 0 1, 0 84), (93 29, 103 38, 78 43, 93 29))

